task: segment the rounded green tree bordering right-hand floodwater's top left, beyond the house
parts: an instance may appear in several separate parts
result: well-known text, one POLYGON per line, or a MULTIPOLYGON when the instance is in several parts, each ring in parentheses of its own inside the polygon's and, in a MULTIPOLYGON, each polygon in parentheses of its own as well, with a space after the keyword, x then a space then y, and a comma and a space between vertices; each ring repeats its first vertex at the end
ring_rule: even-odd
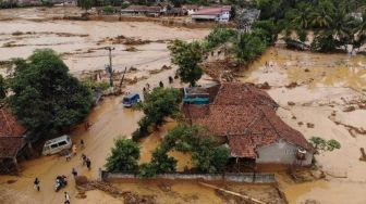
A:
POLYGON ((251 63, 266 50, 266 41, 253 34, 242 34, 233 42, 231 52, 237 63, 251 63))

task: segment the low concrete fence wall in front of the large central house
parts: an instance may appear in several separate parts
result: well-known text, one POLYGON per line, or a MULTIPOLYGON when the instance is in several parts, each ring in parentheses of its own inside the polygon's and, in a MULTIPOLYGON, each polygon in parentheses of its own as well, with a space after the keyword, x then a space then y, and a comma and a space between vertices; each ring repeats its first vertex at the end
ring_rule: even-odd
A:
MULTIPOLYGON (((133 180, 141 179, 137 174, 133 173, 108 173, 99 170, 99 179, 101 180, 133 180)), ((274 183, 277 182, 273 174, 187 174, 187 173, 171 173, 159 174, 151 179, 167 180, 205 180, 205 181, 228 181, 228 182, 244 182, 244 183, 274 183)))

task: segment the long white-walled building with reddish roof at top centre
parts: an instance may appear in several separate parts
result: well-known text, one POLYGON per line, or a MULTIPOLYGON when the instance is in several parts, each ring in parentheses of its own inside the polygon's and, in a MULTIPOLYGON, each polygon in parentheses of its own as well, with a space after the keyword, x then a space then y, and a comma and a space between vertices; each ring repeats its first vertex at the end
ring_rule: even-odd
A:
POLYGON ((203 8, 194 12, 191 16, 194 21, 229 22, 230 11, 230 5, 223 5, 218 8, 203 8))

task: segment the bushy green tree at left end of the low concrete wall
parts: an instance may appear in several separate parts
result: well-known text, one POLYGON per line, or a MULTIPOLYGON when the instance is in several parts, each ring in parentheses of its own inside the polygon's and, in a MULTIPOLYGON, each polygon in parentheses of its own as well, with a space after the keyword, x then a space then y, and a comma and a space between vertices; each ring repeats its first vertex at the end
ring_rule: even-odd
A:
POLYGON ((138 144, 131 139, 118 139, 105 166, 108 171, 135 171, 138 168, 138 144))

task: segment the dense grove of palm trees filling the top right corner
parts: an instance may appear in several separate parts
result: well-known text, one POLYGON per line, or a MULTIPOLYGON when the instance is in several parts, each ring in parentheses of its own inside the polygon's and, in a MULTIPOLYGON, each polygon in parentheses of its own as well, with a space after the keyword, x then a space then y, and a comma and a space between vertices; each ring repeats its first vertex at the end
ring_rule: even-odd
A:
POLYGON ((346 50, 349 44, 355 50, 366 42, 364 0, 258 0, 257 8, 261 20, 272 18, 286 30, 285 38, 305 42, 308 33, 314 31, 309 41, 314 51, 346 50))

